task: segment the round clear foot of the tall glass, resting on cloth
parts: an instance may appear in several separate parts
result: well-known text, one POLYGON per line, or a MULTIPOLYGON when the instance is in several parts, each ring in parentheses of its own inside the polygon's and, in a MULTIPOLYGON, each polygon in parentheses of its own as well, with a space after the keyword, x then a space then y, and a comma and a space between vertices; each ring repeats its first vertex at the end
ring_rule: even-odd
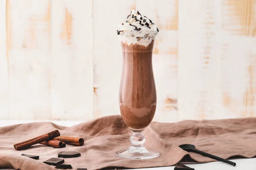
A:
POLYGON ((160 154, 152 150, 143 150, 141 152, 133 152, 129 148, 128 150, 121 150, 116 153, 117 157, 125 159, 152 159, 158 157, 160 154))

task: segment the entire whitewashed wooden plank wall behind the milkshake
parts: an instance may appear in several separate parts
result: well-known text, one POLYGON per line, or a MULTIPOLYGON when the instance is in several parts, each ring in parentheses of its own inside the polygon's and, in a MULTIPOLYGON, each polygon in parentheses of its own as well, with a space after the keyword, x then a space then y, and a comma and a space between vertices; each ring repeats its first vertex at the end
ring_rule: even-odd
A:
POLYGON ((155 121, 256 116, 256 0, 1 0, 0 119, 119 114, 134 8, 160 30, 155 121))

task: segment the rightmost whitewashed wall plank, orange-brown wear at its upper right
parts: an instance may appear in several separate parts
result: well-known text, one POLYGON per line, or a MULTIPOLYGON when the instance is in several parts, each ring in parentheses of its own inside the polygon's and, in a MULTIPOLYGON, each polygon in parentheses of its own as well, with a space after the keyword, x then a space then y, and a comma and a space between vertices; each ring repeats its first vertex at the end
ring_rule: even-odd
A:
POLYGON ((256 116, 256 1, 223 0, 222 26, 221 111, 256 116))

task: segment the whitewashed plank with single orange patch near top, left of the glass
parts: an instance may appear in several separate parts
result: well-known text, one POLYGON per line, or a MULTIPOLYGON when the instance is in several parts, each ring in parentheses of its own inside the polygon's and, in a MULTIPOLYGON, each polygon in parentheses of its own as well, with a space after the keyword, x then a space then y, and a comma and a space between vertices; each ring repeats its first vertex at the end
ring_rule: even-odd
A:
POLYGON ((91 0, 52 1, 52 119, 93 118, 91 0))

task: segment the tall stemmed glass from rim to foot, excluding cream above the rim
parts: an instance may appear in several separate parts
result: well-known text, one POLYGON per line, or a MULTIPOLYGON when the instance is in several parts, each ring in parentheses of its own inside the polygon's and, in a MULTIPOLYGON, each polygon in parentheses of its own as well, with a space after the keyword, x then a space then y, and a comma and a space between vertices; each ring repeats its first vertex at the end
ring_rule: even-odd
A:
POLYGON ((142 131, 151 123, 157 105, 152 68, 152 51, 157 31, 120 31, 123 67, 119 88, 119 107, 125 124, 133 130, 131 147, 116 156, 127 159, 151 159, 159 156, 147 150, 142 131))

